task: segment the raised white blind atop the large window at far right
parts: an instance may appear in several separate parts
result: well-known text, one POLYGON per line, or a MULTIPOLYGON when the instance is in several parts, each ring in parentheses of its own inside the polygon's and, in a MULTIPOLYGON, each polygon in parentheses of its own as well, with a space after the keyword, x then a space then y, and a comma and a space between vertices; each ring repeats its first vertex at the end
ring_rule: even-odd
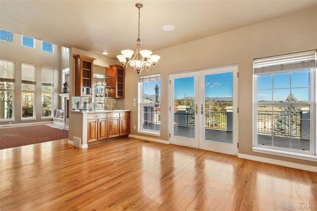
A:
POLYGON ((316 67, 316 51, 290 53, 254 59, 254 74, 292 71, 316 67))

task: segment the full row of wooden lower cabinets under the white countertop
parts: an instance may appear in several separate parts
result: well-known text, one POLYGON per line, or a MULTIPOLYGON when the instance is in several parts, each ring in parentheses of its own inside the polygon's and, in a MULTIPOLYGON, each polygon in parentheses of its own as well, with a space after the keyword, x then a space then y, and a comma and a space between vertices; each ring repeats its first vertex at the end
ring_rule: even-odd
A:
POLYGON ((90 113, 87 142, 130 134, 130 112, 90 113))

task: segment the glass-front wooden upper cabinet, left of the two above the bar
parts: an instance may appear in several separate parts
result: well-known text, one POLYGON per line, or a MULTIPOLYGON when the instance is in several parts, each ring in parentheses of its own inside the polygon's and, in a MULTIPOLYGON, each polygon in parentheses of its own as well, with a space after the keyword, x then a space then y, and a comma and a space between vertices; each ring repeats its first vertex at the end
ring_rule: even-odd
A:
POLYGON ((75 96, 93 95, 94 60, 84 55, 75 55, 75 96))

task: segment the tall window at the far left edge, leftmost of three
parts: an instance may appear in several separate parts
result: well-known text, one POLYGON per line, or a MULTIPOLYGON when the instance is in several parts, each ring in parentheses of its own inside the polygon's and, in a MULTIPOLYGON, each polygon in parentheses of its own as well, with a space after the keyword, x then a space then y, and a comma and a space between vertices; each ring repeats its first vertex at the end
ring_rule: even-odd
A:
POLYGON ((0 119, 14 118, 14 62, 0 60, 0 119))

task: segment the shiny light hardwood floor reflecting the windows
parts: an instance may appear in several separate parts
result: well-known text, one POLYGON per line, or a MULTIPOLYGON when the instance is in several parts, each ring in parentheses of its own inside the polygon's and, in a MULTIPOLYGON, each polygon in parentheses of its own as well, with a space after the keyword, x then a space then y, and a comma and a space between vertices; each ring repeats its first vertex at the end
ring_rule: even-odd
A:
POLYGON ((1 211, 279 211, 314 206, 317 173, 123 138, 0 150, 1 211))

